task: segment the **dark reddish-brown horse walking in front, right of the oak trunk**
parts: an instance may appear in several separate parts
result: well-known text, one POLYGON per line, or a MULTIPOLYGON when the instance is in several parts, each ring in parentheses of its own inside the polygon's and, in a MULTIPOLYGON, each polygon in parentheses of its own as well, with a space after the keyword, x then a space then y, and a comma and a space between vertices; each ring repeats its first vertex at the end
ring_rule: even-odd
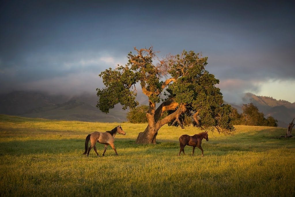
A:
POLYGON ((179 151, 178 156, 180 155, 181 151, 185 155, 184 146, 188 145, 188 146, 193 146, 193 154, 192 155, 194 155, 195 148, 198 147, 199 149, 201 149, 202 157, 203 157, 204 152, 203 152, 203 149, 202 149, 202 146, 201 146, 203 138, 205 138, 207 141, 209 140, 208 139, 208 131, 202 132, 202 133, 199 133, 199 134, 195 134, 193 136, 189 136, 189 135, 180 136, 180 138, 179 138, 180 151, 179 151))

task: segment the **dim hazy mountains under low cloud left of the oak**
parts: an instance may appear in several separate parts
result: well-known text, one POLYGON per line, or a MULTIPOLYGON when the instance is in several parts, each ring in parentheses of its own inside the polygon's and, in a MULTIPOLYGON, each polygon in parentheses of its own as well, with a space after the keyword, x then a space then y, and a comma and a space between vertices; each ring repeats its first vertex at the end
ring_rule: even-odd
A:
POLYGON ((89 122, 127 121, 127 111, 115 106, 106 114, 96 108, 98 97, 84 93, 69 97, 40 91, 14 91, 0 95, 0 113, 31 118, 89 122))

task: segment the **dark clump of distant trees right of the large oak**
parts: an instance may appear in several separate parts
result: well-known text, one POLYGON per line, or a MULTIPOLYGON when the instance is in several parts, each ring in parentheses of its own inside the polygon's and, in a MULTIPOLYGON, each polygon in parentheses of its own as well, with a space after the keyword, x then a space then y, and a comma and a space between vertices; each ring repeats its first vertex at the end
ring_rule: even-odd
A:
POLYGON ((251 125, 251 126, 278 126, 278 121, 272 116, 264 118, 264 114, 259 112, 258 108, 253 103, 243 104, 243 112, 238 113, 236 108, 232 108, 230 118, 233 125, 251 125))

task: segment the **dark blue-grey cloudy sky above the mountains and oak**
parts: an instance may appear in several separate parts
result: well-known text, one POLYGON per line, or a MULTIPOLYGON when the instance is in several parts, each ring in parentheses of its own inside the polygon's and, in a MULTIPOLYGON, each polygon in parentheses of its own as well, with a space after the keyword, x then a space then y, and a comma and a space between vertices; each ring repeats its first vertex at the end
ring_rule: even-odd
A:
POLYGON ((96 94, 133 47, 202 52, 224 100, 295 102, 294 1, 0 1, 0 93, 96 94), (238 3, 237 3, 238 2, 238 3))

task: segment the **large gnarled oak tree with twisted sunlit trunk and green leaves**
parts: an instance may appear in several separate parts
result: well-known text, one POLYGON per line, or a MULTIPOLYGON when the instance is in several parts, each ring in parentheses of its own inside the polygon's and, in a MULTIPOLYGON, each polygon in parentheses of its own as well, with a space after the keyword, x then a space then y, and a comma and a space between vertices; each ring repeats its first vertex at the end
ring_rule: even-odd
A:
POLYGON ((97 89, 97 107, 105 113, 117 103, 123 109, 135 108, 138 105, 135 84, 140 83, 149 107, 148 126, 139 133, 137 143, 155 143, 158 130, 166 123, 183 127, 179 117, 184 114, 192 115, 196 125, 203 128, 214 127, 223 133, 234 129, 229 117, 231 106, 223 104, 222 93, 215 86, 219 80, 205 70, 207 57, 184 50, 180 55, 159 59, 153 47, 134 49, 136 53, 128 53, 125 66, 118 65, 99 74, 105 88, 97 89), (161 95, 165 98, 161 99, 161 95), (157 103, 160 105, 156 108, 157 103), (168 115, 161 119, 164 112, 168 115))

